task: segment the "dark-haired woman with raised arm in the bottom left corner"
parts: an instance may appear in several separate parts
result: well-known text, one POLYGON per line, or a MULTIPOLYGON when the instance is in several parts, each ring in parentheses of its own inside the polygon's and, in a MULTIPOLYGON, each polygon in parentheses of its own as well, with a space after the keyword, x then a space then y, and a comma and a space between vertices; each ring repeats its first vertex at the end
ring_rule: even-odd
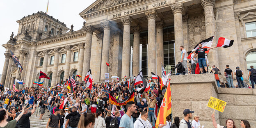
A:
POLYGON ((2 109, 0 111, 0 127, 15 128, 16 123, 18 122, 18 120, 21 118, 21 116, 25 112, 24 110, 25 109, 22 110, 21 114, 19 114, 17 118, 7 122, 6 120, 8 119, 8 115, 11 113, 7 112, 5 109, 2 109))

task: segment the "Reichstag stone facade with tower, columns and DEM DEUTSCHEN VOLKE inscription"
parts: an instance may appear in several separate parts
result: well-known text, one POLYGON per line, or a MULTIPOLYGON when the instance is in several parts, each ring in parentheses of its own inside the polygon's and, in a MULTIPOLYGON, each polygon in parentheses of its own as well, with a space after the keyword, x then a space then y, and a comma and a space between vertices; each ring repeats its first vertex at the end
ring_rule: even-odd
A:
POLYGON ((256 21, 255 5, 256 0, 96 0, 80 13, 86 22, 78 31, 73 31, 73 25, 69 29, 52 16, 37 12, 18 20, 17 36, 2 45, 6 59, 1 82, 11 87, 15 78, 20 80, 9 50, 23 65, 21 78, 26 86, 38 81, 40 70, 52 75, 44 86, 56 85, 76 72, 82 75, 78 80, 83 81, 89 69, 94 82, 103 81, 105 73, 120 78, 137 75, 142 65, 142 32, 147 33, 144 71, 149 77, 151 72, 160 75, 166 54, 173 55, 175 65, 181 59, 179 46, 190 51, 216 30, 213 46, 219 37, 235 41, 230 48, 210 50, 210 65, 218 66, 222 74, 226 64, 231 69, 240 66, 247 76, 246 56, 256 50, 256 37, 247 37, 245 23, 256 21), (174 27, 174 53, 165 53, 164 31, 169 27, 174 27))

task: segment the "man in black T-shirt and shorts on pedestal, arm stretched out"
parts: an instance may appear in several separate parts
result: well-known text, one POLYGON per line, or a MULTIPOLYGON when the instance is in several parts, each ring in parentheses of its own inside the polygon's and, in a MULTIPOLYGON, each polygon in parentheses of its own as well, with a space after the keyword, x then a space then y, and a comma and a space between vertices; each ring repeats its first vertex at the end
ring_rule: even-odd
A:
POLYGON ((196 50, 197 55, 195 55, 195 57, 198 56, 197 61, 198 61, 198 64, 199 64, 200 71, 201 71, 201 73, 203 73, 203 67, 204 67, 206 73, 208 73, 204 53, 205 53, 205 51, 208 51, 210 49, 217 48, 217 46, 211 47, 211 48, 202 48, 201 43, 199 43, 198 46, 199 46, 199 48, 196 50))

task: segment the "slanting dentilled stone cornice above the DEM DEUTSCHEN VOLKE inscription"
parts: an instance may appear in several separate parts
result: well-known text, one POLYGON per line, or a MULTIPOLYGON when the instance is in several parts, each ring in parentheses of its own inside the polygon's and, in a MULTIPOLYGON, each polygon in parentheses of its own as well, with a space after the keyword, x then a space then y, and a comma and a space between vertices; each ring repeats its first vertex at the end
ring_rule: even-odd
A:
POLYGON ((122 8, 127 8, 127 7, 130 7, 130 6, 135 6, 137 4, 141 4, 142 2, 147 2, 147 1, 150 1, 150 0, 131 0, 129 2, 124 2, 124 3, 121 3, 121 4, 117 4, 117 5, 114 5, 114 6, 111 6, 111 7, 107 7, 107 8, 103 8, 103 9, 94 11, 95 9, 97 9, 97 7, 99 7, 98 4, 97 4, 94 7, 91 7, 91 9, 88 10, 87 12, 82 11, 80 13, 80 16, 82 18, 86 19, 86 18, 89 18, 91 16, 103 15, 103 14, 106 14, 106 13, 108 13, 110 11, 115 11, 115 10, 119 10, 119 9, 122 9, 122 8), (82 14, 83 12, 85 14, 82 14))

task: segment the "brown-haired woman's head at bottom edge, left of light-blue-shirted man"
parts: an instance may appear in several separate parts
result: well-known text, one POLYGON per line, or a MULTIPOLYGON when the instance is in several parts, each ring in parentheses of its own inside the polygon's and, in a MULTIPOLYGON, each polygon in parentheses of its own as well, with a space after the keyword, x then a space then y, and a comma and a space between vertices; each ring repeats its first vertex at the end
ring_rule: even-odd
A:
POLYGON ((95 117, 92 113, 84 113, 78 122, 78 128, 94 128, 95 117))

